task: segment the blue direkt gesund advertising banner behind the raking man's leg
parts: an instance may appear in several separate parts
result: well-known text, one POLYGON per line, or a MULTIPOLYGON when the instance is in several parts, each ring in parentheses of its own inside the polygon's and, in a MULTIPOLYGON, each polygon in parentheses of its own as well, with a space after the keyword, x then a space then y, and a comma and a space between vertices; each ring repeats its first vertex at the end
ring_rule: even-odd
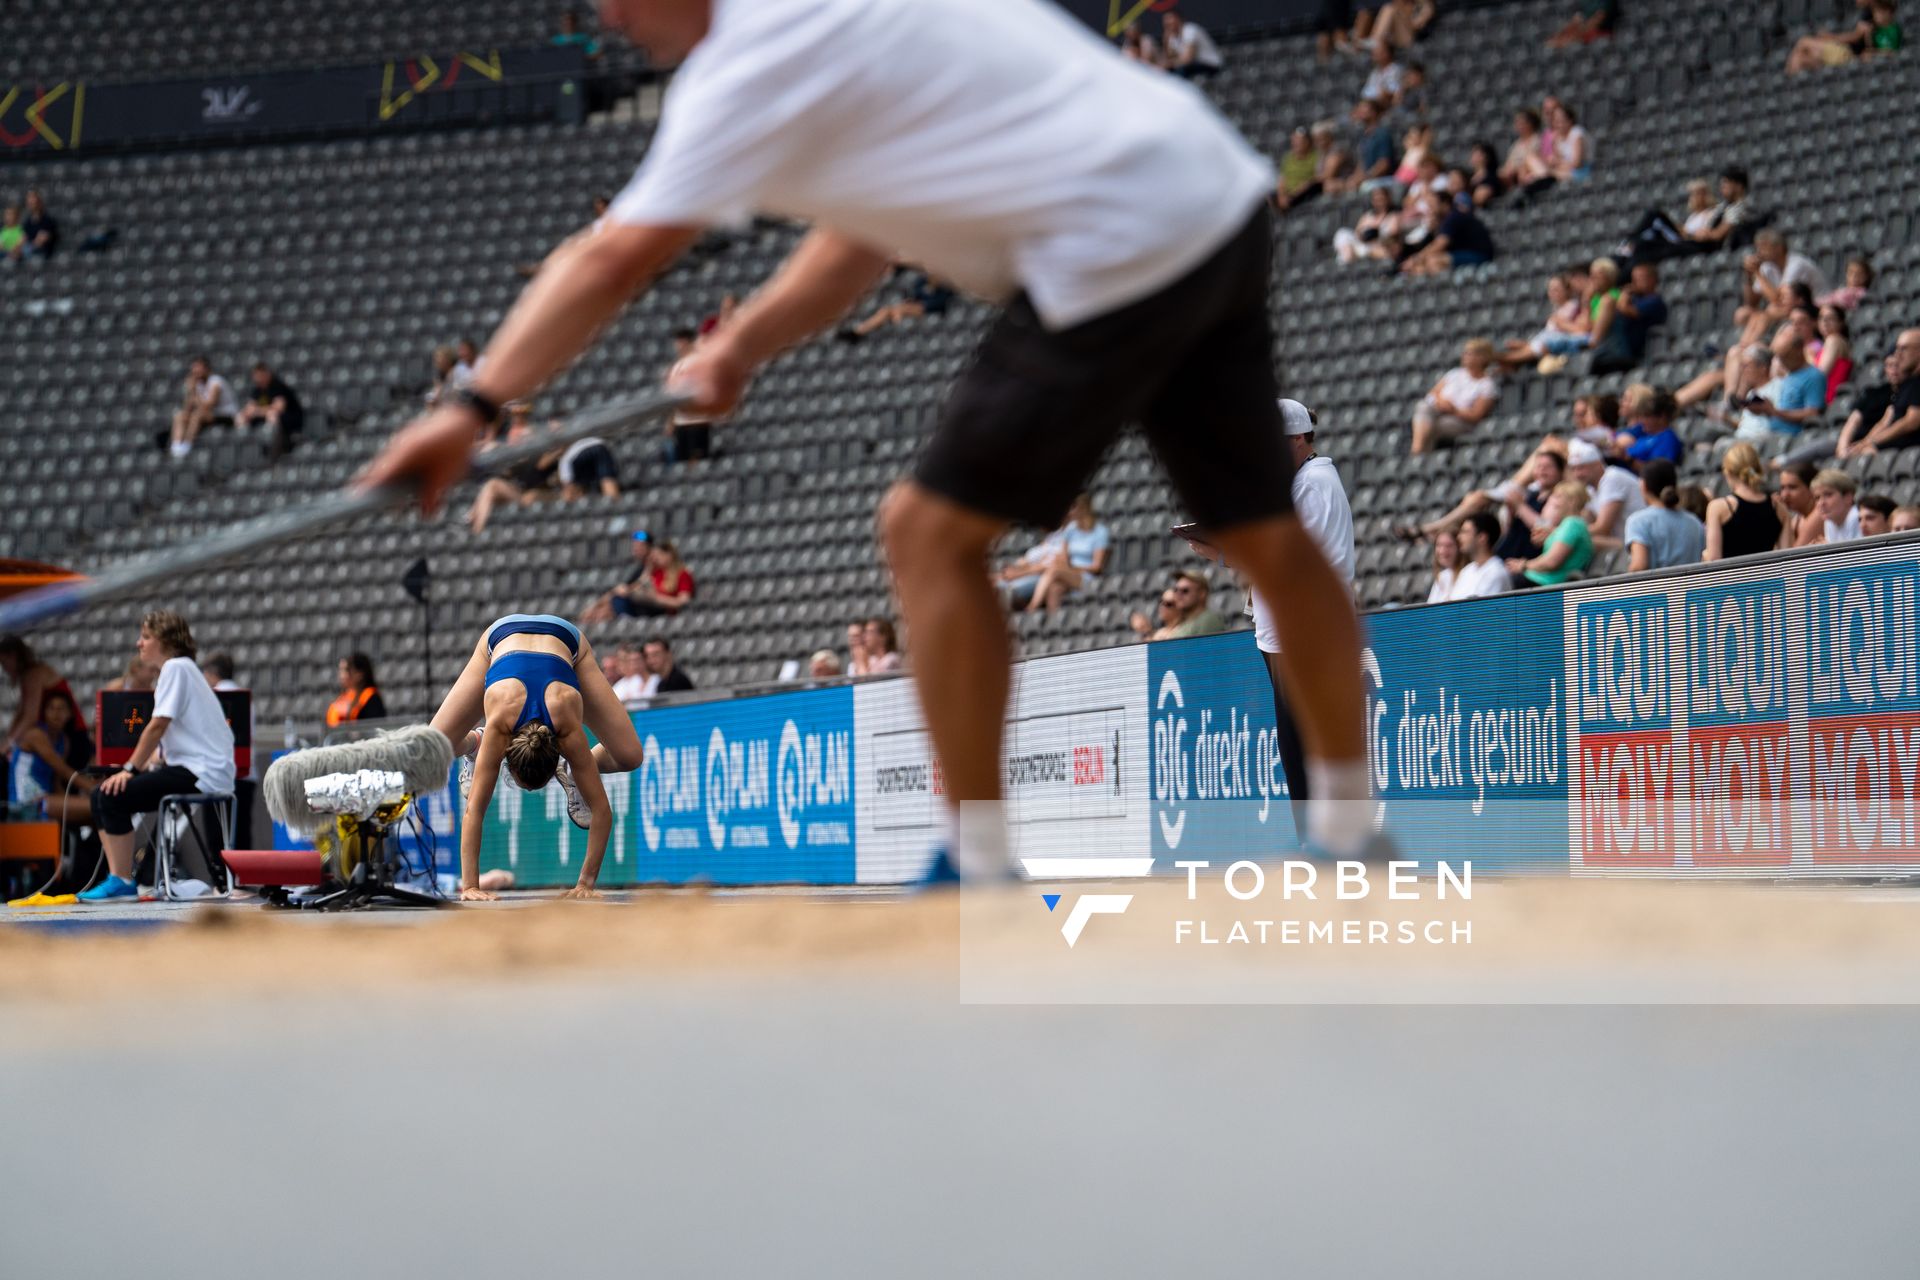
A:
MULTIPOLYGON (((1565 865, 1561 599, 1375 614, 1367 628, 1375 823, 1409 860, 1565 865)), ((1156 858, 1300 846, 1250 631, 1152 645, 1148 716, 1156 858)))

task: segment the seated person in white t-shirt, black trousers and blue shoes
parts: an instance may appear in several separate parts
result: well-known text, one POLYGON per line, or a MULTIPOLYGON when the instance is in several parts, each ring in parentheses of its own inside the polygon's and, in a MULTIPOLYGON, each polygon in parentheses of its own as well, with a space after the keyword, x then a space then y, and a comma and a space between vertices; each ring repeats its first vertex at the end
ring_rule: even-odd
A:
POLYGON ((175 612, 142 618, 140 656, 159 664, 154 714, 127 766, 94 789, 94 827, 106 848, 108 877, 84 890, 83 902, 140 894, 132 883, 136 814, 154 812, 161 798, 173 794, 234 791, 234 733, 219 697, 194 664, 194 635, 186 620, 175 612), (161 754, 165 766, 159 766, 161 754))

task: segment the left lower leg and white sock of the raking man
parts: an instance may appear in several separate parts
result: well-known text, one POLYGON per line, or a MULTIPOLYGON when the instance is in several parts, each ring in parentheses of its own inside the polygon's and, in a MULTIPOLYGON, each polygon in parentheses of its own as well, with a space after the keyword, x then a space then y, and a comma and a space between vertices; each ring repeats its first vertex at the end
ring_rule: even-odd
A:
MULTIPOLYGON (((947 781, 947 802, 954 808, 998 802, 1012 662, 987 557, 1006 522, 902 480, 881 503, 879 528, 900 612, 912 629, 914 687, 947 781)), ((1006 869, 1006 833, 987 825, 981 823, 977 839, 970 827, 968 839, 950 850, 962 875, 1006 869)))

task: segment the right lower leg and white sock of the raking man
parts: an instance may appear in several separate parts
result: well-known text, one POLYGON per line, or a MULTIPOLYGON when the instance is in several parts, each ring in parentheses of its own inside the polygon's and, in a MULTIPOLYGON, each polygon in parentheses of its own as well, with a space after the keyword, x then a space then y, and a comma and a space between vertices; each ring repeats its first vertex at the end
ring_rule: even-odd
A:
POLYGON ((1313 775, 1311 839, 1336 856, 1361 852, 1371 814, 1354 597, 1294 516, 1219 530, 1213 543, 1273 603, 1286 700, 1300 720, 1313 775))

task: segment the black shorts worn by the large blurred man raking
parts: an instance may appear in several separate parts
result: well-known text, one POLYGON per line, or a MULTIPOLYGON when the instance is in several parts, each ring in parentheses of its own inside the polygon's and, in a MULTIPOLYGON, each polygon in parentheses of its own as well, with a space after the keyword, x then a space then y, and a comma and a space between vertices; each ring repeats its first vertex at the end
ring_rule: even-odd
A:
POLYGON ((1190 273, 1048 330, 1025 294, 987 330, 914 480, 962 507, 1052 530, 1100 455, 1140 422, 1192 518, 1223 530, 1290 514, 1265 203, 1190 273))

